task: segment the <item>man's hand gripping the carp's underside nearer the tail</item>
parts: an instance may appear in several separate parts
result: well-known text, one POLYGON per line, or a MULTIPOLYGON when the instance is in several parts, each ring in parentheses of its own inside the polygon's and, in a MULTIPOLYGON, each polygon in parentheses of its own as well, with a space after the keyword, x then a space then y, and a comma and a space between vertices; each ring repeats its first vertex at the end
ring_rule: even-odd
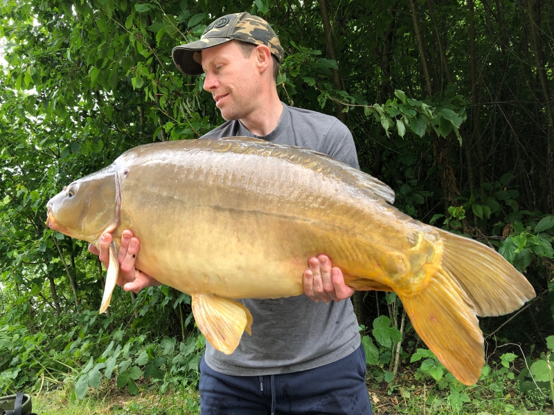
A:
POLYGON ((344 284, 342 271, 333 267, 327 255, 310 258, 310 268, 304 271, 304 293, 314 300, 328 303, 331 300, 339 302, 351 297, 354 290, 344 284))

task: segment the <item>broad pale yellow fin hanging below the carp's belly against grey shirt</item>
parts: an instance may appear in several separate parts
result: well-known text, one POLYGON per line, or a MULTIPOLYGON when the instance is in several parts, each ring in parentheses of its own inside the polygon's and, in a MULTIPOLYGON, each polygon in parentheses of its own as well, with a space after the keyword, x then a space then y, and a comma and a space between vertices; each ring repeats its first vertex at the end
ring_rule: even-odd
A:
POLYGON ((213 294, 193 294, 192 297, 196 324, 215 349, 231 354, 242 332, 251 334, 252 315, 239 302, 213 294))

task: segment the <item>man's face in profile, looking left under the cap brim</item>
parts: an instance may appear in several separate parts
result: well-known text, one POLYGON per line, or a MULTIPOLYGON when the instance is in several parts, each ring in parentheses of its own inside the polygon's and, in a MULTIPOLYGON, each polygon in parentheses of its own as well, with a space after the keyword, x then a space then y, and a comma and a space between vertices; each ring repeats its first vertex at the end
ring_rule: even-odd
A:
POLYGON ((207 48, 202 50, 202 68, 206 73, 204 89, 212 93, 224 120, 247 118, 258 107, 256 50, 245 58, 234 41, 207 48))

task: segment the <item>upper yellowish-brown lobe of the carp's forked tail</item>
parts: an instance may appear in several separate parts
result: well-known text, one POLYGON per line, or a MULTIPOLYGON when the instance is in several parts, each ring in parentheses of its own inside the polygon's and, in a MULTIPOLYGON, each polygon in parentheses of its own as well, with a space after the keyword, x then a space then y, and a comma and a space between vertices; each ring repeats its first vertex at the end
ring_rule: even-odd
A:
POLYGON ((498 252, 472 239, 438 230, 442 266, 472 299, 477 315, 511 313, 535 297, 527 279, 498 252))

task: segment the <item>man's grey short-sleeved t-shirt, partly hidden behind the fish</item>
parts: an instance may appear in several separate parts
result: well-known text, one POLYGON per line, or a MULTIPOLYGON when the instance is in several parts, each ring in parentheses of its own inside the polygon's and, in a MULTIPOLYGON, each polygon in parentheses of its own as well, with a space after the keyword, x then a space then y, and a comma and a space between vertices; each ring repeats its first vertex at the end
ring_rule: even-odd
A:
MULTIPOLYGON (((279 124, 267 136, 253 135, 235 120, 202 138, 233 136, 305 147, 359 168, 348 127, 337 118, 314 111, 283 104, 279 124)), ((262 376, 313 369, 344 358, 359 347, 358 324, 348 299, 325 304, 298 295, 240 302, 252 313, 252 335, 244 333, 231 355, 206 344, 207 365, 222 374, 262 376)))

